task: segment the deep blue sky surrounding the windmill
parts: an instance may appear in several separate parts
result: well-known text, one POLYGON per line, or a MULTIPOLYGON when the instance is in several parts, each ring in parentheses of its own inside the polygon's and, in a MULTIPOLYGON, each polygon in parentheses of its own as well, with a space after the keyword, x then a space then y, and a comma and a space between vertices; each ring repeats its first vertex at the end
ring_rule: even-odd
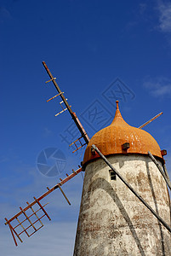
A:
POLYGON ((72 154, 68 148, 68 142, 78 136, 69 113, 54 117, 61 110, 59 98, 46 102, 56 91, 53 84, 45 84, 48 75, 42 61, 57 78, 89 137, 111 123, 116 99, 123 118, 136 127, 162 111, 145 131, 168 150, 169 171, 171 2, 1 0, 0 46, 1 251, 6 256, 72 255, 81 174, 63 187, 71 207, 60 191, 49 195, 47 211, 52 221, 44 219, 45 227, 19 247, 14 247, 3 224, 3 218, 12 217, 83 160, 82 149, 72 154), (94 113, 99 113, 99 119, 94 113), (66 168, 60 176, 46 177, 37 169, 37 156, 44 148, 65 154, 66 168))

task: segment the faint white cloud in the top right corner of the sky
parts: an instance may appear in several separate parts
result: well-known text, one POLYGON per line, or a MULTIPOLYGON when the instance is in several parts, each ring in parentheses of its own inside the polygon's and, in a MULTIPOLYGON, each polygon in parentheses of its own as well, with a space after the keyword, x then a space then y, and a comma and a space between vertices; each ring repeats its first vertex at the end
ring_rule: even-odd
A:
POLYGON ((158 1, 159 29, 162 32, 171 32, 171 3, 158 1))

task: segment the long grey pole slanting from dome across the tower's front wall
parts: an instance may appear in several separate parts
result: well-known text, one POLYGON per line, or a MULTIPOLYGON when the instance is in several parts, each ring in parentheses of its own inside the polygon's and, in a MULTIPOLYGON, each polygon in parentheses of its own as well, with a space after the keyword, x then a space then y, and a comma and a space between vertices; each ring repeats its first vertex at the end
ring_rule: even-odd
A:
POLYGON ((168 226, 168 224, 157 214, 157 212, 155 212, 147 202, 145 202, 145 200, 133 189, 133 187, 131 185, 129 185, 129 183, 120 175, 119 172, 117 172, 116 168, 114 168, 113 166, 111 166, 111 163, 105 158, 105 156, 100 152, 100 150, 95 146, 92 145, 92 147, 95 149, 95 151, 100 155, 100 157, 105 161, 105 163, 110 166, 111 170, 113 170, 114 172, 116 172, 117 177, 119 177, 123 183, 128 187, 128 189, 130 189, 133 194, 138 197, 138 199, 145 205, 145 207, 147 207, 151 213, 158 219, 159 222, 162 223, 162 225, 171 233, 171 228, 168 226))

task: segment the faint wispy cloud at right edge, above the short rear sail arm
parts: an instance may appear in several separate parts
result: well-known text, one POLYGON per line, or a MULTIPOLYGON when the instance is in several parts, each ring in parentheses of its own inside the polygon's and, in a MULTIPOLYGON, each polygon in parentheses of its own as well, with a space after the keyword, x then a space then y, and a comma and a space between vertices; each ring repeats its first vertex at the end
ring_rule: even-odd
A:
POLYGON ((166 78, 156 78, 145 80, 145 88, 149 90, 151 96, 171 97, 171 80, 166 78))

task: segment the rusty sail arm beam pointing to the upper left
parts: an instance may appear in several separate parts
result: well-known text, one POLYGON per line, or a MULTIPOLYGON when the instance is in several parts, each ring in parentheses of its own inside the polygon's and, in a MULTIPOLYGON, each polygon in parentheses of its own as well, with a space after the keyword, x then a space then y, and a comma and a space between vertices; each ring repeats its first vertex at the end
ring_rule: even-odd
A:
POLYGON ((81 132, 82 137, 83 137, 85 143, 88 144, 88 142, 89 142, 89 137, 88 137, 87 132, 84 130, 83 125, 80 123, 79 119, 77 118, 77 114, 74 113, 74 112, 71 110, 71 106, 68 104, 68 102, 67 102, 67 100, 66 100, 66 97, 63 95, 63 92, 60 90, 59 85, 56 83, 54 76, 52 75, 52 73, 50 73, 50 71, 49 71, 49 69, 48 69, 48 67, 47 67, 47 65, 46 65, 46 63, 45 63, 44 61, 43 61, 43 67, 46 69, 46 71, 47 71, 47 73, 48 73, 48 76, 49 76, 49 78, 50 78, 49 81, 52 81, 52 82, 53 82, 54 87, 55 87, 56 90, 59 92, 62 101, 64 102, 64 104, 66 105, 67 110, 68 110, 69 113, 71 114, 71 118, 74 120, 75 124, 77 125, 78 130, 81 132))

